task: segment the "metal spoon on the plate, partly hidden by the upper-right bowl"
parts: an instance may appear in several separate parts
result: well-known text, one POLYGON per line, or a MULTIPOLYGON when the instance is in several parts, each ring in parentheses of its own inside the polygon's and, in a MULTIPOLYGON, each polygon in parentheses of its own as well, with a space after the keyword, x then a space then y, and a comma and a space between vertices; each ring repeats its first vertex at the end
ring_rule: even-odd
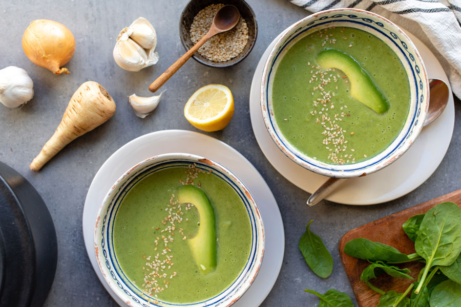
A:
MULTIPOLYGON (((429 79, 429 109, 423 127, 439 117, 448 103, 449 91, 445 81, 429 79)), ((310 195, 307 205, 312 207, 326 198, 332 191, 339 187, 346 179, 330 177, 315 192, 310 195)))

